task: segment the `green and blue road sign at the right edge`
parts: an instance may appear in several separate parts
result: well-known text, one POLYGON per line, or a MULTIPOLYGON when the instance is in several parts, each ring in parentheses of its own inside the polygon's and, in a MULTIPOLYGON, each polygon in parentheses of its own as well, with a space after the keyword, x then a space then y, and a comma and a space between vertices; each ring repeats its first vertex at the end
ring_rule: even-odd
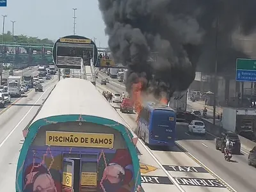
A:
POLYGON ((236 81, 256 82, 256 60, 236 60, 236 81))

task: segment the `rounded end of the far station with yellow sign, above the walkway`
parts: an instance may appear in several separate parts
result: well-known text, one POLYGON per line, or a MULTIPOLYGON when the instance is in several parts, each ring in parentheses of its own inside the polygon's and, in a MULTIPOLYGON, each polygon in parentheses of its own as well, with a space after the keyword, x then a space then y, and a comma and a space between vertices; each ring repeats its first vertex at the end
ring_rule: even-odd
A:
POLYGON ((97 64, 98 50, 90 38, 77 35, 63 36, 52 48, 52 59, 58 68, 80 69, 82 61, 83 65, 91 65, 91 62, 94 66, 97 64))

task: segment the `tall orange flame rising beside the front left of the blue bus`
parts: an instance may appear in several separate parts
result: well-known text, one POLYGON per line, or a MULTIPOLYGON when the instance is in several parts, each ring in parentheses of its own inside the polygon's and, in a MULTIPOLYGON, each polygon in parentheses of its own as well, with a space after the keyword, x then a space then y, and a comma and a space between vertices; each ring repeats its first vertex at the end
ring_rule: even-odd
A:
POLYGON ((138 114, 136 122, 138 122, 138 119, 142 110, 141 89, 142 89, 141 81, 139 83, 132 84, 132 100, 134 103, 134 108, 138 114))

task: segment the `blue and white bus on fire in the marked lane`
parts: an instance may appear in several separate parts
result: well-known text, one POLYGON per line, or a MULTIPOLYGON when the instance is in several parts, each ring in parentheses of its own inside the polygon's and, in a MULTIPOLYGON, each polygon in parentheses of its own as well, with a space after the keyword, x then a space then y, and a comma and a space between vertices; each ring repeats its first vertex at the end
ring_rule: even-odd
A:
POLYGON ((172 147, 175 145, 176 113, 163 104, 148 102, 143 106, 138 134, 147 145, 172 147))

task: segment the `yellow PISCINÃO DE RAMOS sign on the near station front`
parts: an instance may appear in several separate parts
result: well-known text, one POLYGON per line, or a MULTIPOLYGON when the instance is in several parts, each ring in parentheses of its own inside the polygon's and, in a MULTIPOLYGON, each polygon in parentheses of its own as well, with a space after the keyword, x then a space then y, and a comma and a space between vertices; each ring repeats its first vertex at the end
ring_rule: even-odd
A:
POLYGON ((46 131, 45 145, 113 148, 114 134, 46 131))

